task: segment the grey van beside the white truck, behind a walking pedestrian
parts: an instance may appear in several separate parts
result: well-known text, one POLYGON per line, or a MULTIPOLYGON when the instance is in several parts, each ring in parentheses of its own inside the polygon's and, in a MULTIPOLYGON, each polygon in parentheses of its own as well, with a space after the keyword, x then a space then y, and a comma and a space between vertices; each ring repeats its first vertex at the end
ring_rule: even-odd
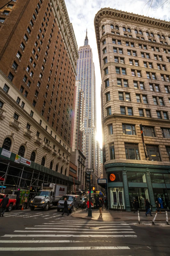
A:
POLYGON ((78 209, 80 205, 80 196, 77 195, 65 195, 62 196, 57 205, 57 212, 64 209, 64 198, 67 200, 69 213, 72 213, 74 209, 78 209))

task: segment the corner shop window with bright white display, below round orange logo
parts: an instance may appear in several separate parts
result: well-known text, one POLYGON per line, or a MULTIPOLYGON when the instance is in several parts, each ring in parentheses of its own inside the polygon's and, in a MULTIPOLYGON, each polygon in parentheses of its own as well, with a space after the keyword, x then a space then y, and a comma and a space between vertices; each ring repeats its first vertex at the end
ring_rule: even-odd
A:
POLYGON ((125 209, 124 192, 122 187, 110 188, 110 208, 125 209))

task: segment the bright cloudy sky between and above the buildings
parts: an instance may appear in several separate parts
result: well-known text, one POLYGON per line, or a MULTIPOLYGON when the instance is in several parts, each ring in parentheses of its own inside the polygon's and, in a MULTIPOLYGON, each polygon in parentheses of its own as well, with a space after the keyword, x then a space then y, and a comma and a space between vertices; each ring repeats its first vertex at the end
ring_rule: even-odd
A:
POLYGON ((112 9, 133 12, 135 14, 170 21, 170 15, 168 15, 170 11, 170 0, 65 0, 65 4, 70 22, 73 25, 78 47, 84 45, 87 28, 87 36, 89 45, 92 48, 96 76, 97 140, 100 142, 100 147, 102 147, 100 98, 101 73, 94 30, 95 14, 101 8, 110 7, 112 9))

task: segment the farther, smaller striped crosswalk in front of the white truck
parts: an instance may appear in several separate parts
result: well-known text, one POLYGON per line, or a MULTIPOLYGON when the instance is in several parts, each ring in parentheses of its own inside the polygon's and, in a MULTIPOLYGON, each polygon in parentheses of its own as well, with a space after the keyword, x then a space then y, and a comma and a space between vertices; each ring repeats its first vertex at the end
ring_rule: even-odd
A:
POLYGON ((20 217, 23 219, 29 219, 29 218, 44 218, 44 219, 53 219, 53 218, 59 218, 61 217, 61 213, 57 212, 57 210, 49 211, 49 212, 43 212, 39 211, 38 213, 35 213, 31 210, 26 210, 26 211, 15 211, 15 212, 10 212, 10 213, 5 213, 4 217, 9 218, 9 217, 20 217))

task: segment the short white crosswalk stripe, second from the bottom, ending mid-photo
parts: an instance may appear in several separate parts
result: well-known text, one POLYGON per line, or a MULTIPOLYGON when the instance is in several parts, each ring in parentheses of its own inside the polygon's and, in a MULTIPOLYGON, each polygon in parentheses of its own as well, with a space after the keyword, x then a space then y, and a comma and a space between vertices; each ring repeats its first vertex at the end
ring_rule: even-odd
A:
MULTIPOLYGON (((92 241, 89 241, 92 242, 92 241)), ((0 244, 5 243, 83 243, 83 241, 74 240, 0 240, 0 244)))

